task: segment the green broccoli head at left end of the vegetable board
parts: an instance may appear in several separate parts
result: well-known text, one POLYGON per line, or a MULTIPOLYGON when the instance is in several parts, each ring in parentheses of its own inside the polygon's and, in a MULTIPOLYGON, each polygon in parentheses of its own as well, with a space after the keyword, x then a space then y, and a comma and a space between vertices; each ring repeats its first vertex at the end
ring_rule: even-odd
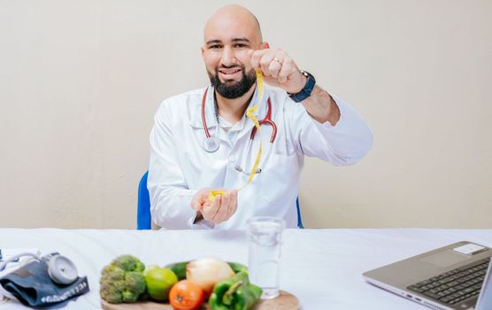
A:
POLYGON ((131 255, 119 256, 101 273, 101 298, 111 304, 134 303, 145 291, 142 261, 131 255))

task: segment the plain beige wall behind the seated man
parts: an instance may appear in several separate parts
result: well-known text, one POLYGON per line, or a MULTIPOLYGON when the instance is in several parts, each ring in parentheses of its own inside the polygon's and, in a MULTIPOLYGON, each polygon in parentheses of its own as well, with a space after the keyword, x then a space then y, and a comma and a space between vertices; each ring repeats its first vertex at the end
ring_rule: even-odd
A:
MULTIPOLYGON (((135 227, 153 113, 207 83, 221 4, 0 1, 0 226, 135 227)), ((306 226, 492 228, 492 2, 242 4, 373 128, 356 166, 306 159, 306 226)))

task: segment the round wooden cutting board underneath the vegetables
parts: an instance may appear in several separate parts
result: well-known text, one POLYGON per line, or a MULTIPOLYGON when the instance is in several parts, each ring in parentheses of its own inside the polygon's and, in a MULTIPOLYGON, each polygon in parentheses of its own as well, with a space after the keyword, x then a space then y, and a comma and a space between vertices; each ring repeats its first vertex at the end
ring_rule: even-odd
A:
MULTIPOLYGON (((101 299, 101 305, 105 310, 173 310, 169 304, 160 304, 153 301, 144 301, 135 304, 110 304, 101 299)), ((208 310, 204 305, 200 310, 208 310)), ((254 307, 255 310, 298 310, 299 300, 288 291, 281 291, 281 295, 273 299, 262 299, 254 307)))

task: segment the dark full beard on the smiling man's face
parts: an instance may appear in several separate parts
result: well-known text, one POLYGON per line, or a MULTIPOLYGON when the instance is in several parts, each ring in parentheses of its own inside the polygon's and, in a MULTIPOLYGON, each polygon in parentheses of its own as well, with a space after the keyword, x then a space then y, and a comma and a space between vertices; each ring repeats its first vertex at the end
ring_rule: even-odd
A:
MULTIPOLYGON (((228 69, 230 69, 230 67, 228 67, 228 69)), ((241 67, 241 69, 242 78, 240 81, 225 82, 219 80, 219 68, 215 69, 215 74, 211 74, 211 72, 207 70, 211 85, 217 90, 220 96, 226 97, 227 99, 242 97, 242 95, 246 94, 248 90, 251 89, 251 86, 257 82, 255 70, 251 69, 249 73, 246 73, 244 67, 241 67)))

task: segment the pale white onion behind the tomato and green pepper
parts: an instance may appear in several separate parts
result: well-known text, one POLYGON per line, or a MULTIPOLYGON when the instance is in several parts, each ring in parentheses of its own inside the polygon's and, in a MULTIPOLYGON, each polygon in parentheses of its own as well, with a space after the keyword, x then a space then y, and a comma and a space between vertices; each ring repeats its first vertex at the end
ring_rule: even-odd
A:
POLYGON ((186 266, 186 279, 200 286, 205 298, 210 296, 215 283, 233 275, 234 271, 229 264, 217 259, 192 260, 186 266))

